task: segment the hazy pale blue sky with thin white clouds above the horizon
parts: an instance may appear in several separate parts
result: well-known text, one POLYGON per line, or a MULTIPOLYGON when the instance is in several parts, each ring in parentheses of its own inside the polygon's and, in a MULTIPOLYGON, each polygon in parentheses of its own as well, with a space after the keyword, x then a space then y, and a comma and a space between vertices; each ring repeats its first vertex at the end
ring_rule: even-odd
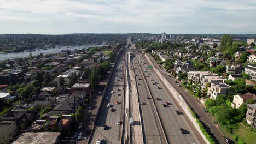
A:
POLYGON ((256 34, 255 0, 0 0, 0 34, 256 34))

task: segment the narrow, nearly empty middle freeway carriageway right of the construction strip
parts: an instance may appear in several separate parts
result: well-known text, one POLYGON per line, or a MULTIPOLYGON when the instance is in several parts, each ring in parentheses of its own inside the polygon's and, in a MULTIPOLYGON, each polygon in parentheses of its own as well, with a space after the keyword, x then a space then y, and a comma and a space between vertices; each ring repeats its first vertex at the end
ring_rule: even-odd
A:
POLYGON ((143 120, 143 128, 144 128, 144 136, 146 139, 146 143, 164 143, 164 133, 160 130, 160 123, 156 118, 157 115, 155 113, 152 99, 147 99, 150 97, 150 93, 148 91, 146 81, 143 80, 143 76, 141 71, 138 69, 138 64, 134 59, 134 55, 131 56, 131 61, 133 63, 133 68, 135 71, 136 82, 139 83, 137 85, 138 88, 138 96, 141 101, 144 101, 146 104, 141 105, 142 110, 142 120, 143 120), (140 80, 141 79, 141 80, 140 80))

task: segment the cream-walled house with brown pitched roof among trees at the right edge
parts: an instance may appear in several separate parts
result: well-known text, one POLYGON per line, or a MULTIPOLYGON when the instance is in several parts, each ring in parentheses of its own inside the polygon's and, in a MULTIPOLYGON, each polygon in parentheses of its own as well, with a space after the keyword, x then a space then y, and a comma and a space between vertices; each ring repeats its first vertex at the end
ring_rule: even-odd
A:
POLYGON ((247 100, 254 99, 256 100, 256 95, 252 93, 246 94, 236 94, 233 97, 233 101, 231 103, 231 107, 238 109, 243 103, 246 103, 247 100))

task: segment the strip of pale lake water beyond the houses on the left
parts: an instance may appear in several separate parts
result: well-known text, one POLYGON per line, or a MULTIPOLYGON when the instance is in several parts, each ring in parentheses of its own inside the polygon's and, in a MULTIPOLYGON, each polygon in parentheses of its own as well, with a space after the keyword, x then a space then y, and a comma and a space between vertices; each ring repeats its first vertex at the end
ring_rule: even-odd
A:
MULTIPOLYGON (((40 51, 31 51, 32 56, 40 55, 40 53, 50 54, 50 53, 58 53, 61 50, 82 50, 82 49, 88 49, 89 47, 95 47, 95 46, 104 46, 104 45, 81 45, 81 46, 72 46, 72 47, 60 47, 60 49, 47 49, 47 50, 40 50, 40 51)), ((14 59, 18 57, 28 57, 30 55, 30 52, 15 52, 15 53, 0 53, 0 61, 3 61, 5 59, 14 59)))

